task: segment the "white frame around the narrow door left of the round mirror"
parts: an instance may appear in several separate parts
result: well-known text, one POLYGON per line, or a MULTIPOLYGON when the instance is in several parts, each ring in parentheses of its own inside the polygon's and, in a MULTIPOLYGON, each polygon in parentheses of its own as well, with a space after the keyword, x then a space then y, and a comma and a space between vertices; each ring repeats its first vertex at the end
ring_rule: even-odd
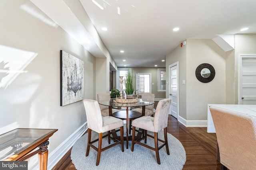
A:
MULTIPOLYGON (((179 115, 180 115, 180 114, 179 114, 179 110, 180 110, 180 109, 179 109, 179 107, 180 107, 180 106, 179 106, 179 103, 180 103, 180 102, 179 102, 179 62, 178 62, 178 61, 175 62, 175 63, 172 63, 172 64, 170 64, 170 65, 168 66, 168 68, 169 68, 169 69, 168 69, 168 70, 169 70, 169 71, 168 71, 168 81, 169 81, 169 82, 168 82, 168 84, 169 84, 169 91, 168 91, 168 92, 169 92, 169 94, 167 94, 167 95, 168 95, 169 98, 170 98, 171 85, 172 85, 172 84, 170 83, 170 82, 171 82, 171 80, 170 80, 170 78, 171 78, 170 72, 171 72, 171 68, 172 68, 173 66, 176 66, 176 65, 177 65, 177 114, 178 114, 177 117, 178 117, 178 120, 179 120, 179 115)), ((171 114, 171 109, 172 109, 172 108, 170 107, 169 114, 171 114)))

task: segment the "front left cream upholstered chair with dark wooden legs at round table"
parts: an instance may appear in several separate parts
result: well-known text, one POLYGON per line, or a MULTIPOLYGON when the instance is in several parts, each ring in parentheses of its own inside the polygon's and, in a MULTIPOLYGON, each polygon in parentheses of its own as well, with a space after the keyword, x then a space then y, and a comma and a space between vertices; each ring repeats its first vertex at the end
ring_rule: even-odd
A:
MULTIPOLYGON (((100 106, 96 100, 84 99, 84 108, 86 111, 86 119, 88 125, 88 142, 86 148, 86 155, 89 155, 90 147, 95 149, 97 154, 96 166, 100 163, 100 154, 102 151, 114 147, 115 145, 121 144, 122 152, 124 152, 124 122, 122 119, 118 119, 112 116, 102 116, 100 112, 100 106), (120 128, 120 141, 110 137, 110 131, 113 129, 120 128), (92 131, 98 133, 98 139, 91 141, 92 131), (110 144, 110 139, 115 141, 114 144, 109 145, 108 147, 102 148, 102 134, 108 132, 108 143, 110 144), (98 148, 92 145, 98 141, 98 148)), ((107 156, 107 155, 106 155, 107 156)))

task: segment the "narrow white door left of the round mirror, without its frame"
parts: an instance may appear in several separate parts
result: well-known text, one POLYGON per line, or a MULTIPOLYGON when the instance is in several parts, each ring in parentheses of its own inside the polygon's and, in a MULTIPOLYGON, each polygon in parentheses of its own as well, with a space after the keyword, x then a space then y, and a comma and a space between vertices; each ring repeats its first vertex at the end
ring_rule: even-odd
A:
POLYGON ((172 99, 170 113, 178 119, 178 62, 169 66, 169 98, 172 99))

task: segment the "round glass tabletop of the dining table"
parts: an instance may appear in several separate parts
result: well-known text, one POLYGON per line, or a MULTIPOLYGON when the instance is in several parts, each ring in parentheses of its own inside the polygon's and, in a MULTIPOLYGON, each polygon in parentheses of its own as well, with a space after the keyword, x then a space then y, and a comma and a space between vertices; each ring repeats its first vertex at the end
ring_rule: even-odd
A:
POLYGON ((112 107, 136 107, 136 106, 148 106, 154 104, 154 101, 146 100, 143 101, 142 99, 138 99, 138 102, 136 103, 118 103, 115 101, 115 99, 109 99, 109 100, 102 100, 98 102, 101 105, 104 106, 112 106, 112 107))

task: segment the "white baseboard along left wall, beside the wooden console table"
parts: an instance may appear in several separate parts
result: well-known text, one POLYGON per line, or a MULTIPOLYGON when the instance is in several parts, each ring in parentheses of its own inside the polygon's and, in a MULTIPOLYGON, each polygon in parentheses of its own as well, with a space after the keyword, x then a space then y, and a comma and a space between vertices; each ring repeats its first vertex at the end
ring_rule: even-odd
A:
MULTIPOLYGON (((48 155, 48 165, 47 165, 48 170, 51 170, 60 161, 60 159, 74 145, 76 140, 79 139, 87 129, 88 127, 86 122, 48 155)), ((38 170, 38 169, 39 167, 37 164, 32 170, 38 170)))

